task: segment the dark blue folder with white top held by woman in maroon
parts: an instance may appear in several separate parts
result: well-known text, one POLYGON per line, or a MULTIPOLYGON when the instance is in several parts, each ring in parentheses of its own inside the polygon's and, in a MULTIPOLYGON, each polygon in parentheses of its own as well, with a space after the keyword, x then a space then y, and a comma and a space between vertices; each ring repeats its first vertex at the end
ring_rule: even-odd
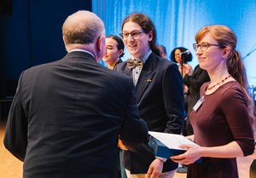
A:
MULTIPOLYGON (((154 155, 160 158, 170 158, 186 152, 185 149, 178 147, 181 144, 196 145, 193 141, 189 141, 189 139, 183 135, 153 131, 148 131, 148 134, 150 135, 148 144, 154 150, 154 155)), ((201 163, 201 158, 195 163, 201 163)))

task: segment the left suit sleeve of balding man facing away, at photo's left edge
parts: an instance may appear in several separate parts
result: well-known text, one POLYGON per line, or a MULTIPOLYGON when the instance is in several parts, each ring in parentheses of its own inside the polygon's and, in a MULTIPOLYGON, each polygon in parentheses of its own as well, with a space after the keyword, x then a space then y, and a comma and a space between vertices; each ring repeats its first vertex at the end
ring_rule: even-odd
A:
POLYGON ((16 89, 15 98, 10 107, 9 117, 3 139, 4 146, 20 161, 24 161, 27 146, 27 119, 21 103, 21 80, 16 89))

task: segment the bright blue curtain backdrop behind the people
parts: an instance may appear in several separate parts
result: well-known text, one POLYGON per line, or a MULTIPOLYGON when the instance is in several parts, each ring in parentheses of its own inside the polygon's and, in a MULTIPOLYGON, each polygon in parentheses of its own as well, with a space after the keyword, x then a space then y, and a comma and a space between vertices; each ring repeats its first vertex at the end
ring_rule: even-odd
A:
MULTIPOLYGON (((238 38, 249 84, 256 85, 255 0, 93 0, 92 9, 104 21, 107 35, 121 32, 126 15, 148 14, 157 30, 157 43, 165 45, 168 54, 178 46, 188 48, 194 56, 193 67, 198 64, 192 49, 196 32, 211 24, 230 26, 238 38)), ((129 57, 125 52, 123 60, 129 57)))

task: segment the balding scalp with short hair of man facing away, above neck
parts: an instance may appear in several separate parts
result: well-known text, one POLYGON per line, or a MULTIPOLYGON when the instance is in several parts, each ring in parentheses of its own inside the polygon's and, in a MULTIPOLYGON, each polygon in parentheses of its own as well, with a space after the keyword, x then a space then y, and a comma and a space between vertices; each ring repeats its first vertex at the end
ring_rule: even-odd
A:
POLYGON ((79 10, 71 14, 62 26, 63 39, 66 45, 95 43, 105 35, 102 20, 90 11, 79 10))

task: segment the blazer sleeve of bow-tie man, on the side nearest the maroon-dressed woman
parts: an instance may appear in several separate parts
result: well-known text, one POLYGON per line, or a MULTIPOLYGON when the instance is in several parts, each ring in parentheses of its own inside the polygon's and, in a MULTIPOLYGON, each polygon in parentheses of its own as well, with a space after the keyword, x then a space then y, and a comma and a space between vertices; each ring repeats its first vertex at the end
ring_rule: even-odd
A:
POLYGON ((177 65, 167 67, 162 81, 163 98, 166 107, 166 133, 181 134, 184 118, 183 79, 177 65))

